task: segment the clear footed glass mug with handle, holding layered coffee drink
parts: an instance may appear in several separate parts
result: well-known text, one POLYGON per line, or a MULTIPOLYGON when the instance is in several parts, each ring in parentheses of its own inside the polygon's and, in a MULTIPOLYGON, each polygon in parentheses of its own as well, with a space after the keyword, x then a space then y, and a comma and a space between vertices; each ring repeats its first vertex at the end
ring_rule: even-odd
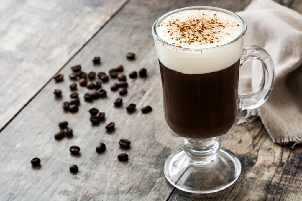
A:
POLYGON ((257 108, 268 99, 275 79, 273 62, 264 49, 258 46, 242 48, 245 33, 246 24, 237 14, 207 6, 177 9, 153 24, 165 119, 177 135, 184 137, 183 149, 166 160, 164 174, 180 190, 214 193, 232 185, 240 175, 239 159, 232 152, 220 149, 219 137, 231 129, 239 111, 257 108), (166 17, 194 9, 220 11, 235 17, 241 23, 240 35, 224 45, 204 49, 173 46, 158 36, 156 29, 166 17), (230 58, 235 58, 236 62, 230 63, 230 58), (239 67, 254 59, 262 63, 261 83, 255 90, 238 94, 239 67), (225 65, 225 68, 199 74, 170 69, 173 65, 207 68, 209 61, 225 65))

